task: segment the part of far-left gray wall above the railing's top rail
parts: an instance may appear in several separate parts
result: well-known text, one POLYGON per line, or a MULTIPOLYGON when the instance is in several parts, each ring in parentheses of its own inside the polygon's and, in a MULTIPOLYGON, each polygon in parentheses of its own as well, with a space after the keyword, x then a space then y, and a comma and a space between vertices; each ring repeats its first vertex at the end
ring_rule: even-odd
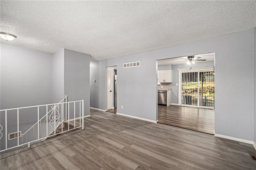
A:
POLYGON ((1 108, 52 103, 52 54, 1 44, 1 108))

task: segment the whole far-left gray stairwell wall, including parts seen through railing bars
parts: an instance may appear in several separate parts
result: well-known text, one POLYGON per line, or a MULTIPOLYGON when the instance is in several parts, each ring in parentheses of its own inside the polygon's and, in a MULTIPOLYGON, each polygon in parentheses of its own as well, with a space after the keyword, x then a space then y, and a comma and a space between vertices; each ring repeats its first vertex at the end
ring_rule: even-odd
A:
MULTIPOLYGON (((1 44, 0 109, 36 106, 52 103, 52 54, 1 44)), ((37 109, 20 109, 19 130, 24 133, 37 121, 37 109), (29 117, 24 117, 26 115, 29 117)), ((46 113, 40 107, 39 115, 46 113)), ((0 124, 5 126, 5 114, 0 113, 0 124)), ((17 113, 7 112, 7 133, 16 132, 17 113)), ((5 131, 2 131, 1 150, 5 148, 5 131)), ((8 147, 15 146, 17 140, 8 141, 8 147)), ((4 152, 1 152, 1 154, 4 152)))

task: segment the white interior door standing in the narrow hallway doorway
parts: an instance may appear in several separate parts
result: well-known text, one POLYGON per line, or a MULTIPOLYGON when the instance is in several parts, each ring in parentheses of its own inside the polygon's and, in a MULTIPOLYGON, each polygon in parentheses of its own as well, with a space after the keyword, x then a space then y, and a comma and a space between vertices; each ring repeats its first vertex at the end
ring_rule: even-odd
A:
POLYGON ((113 68, 107 68, 107 109, 113 106, 113 68))

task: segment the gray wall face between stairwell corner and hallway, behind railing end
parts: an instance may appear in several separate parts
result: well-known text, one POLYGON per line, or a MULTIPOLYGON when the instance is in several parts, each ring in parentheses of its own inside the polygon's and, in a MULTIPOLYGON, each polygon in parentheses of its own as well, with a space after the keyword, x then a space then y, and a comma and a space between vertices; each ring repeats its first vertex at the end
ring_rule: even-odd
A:
POLYGON ((84 99, 84 115, 90 115, 90 55, 64 49, 64 94, 68 101, 84 99))

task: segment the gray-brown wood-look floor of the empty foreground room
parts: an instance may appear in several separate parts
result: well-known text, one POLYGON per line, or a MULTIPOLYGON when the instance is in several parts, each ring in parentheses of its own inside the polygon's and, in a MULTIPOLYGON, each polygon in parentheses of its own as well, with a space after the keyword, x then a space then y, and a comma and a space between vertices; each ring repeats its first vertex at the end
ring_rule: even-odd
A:
POLYGON ((0 169, 256 169, 252 145, 91 109, 75 130, 1 155, 0 169))

